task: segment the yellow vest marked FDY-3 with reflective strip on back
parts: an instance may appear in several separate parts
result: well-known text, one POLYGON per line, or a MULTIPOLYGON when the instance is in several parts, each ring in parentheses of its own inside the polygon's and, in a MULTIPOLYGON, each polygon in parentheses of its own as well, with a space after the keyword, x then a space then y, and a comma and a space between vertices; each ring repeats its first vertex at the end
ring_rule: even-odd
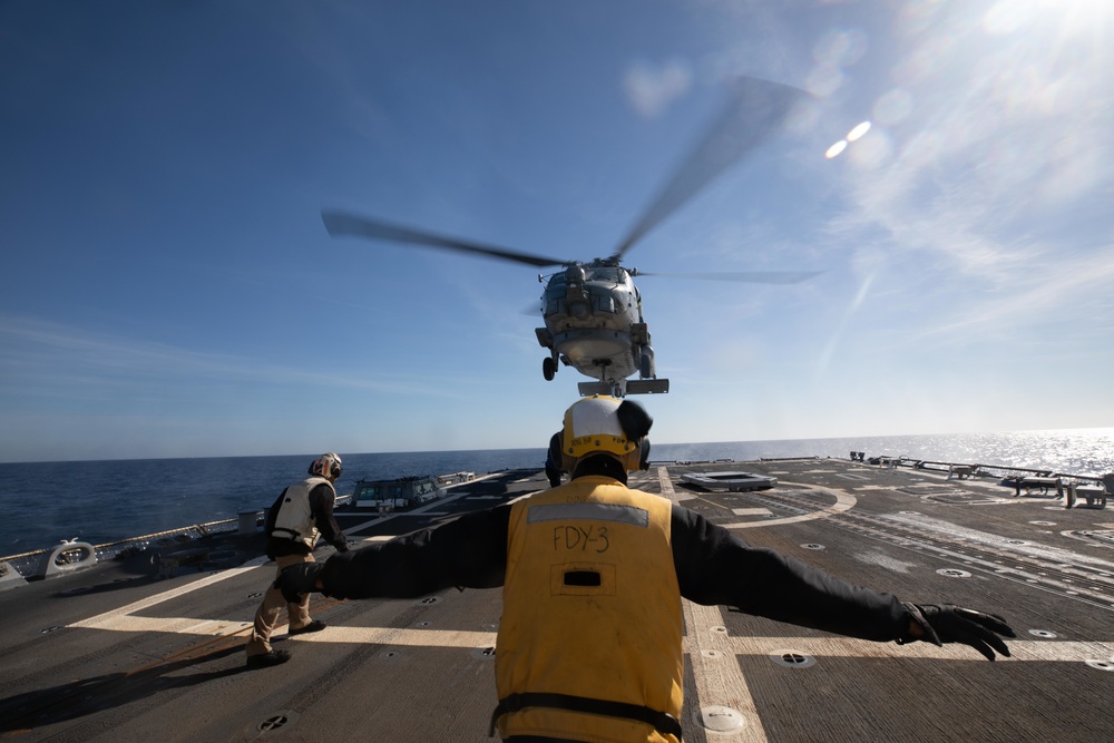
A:
POLYGON ((671 512, 602 476, 511 507, 492 721, 504 737, 680 743, 671 512))

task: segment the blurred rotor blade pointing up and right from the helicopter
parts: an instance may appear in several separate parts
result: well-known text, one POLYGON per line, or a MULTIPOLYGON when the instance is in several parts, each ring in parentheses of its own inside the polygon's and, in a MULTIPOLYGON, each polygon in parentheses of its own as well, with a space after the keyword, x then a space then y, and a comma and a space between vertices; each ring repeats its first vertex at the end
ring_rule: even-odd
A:
POLYGON ((808 97, 803 90, 752 77, 741 77, 732 87, 731 100, 613 257, 622 258, 658 223, 762 144, 784 123, 793 105, 808 97))

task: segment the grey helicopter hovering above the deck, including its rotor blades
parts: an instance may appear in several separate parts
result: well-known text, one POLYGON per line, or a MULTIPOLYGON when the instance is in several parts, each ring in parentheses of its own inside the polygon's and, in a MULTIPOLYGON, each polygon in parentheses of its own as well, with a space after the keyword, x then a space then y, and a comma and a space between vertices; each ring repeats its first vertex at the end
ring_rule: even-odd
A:
POLYGON ((543 377, 553 381, 560 365, 566 365, 596 380, 577 385, 582 395, 622 398, 665 393, 670 391, 670 380, 657 377, 635 276, 789 284, 819 273, 644 273, 623 265, 627 251, 730 165, 782 127, 794 106, 807 97, 797 88, 752 77, 737 78, 730 88, 727 104, 712 126, 607 257, 582 262, 532 255, 333 209, 322 209, 322 221, 333 237, 362 237, 485 255, 541 268, 560 267, 548 275, 548 281, 545 274, 538 275, 538 281, 545 283, 541 295, 544 326, 535 329, 535 334, 541 348, 549 352, 543 359, 543 377), (638 379, 627 379, 636 372, 638 379))

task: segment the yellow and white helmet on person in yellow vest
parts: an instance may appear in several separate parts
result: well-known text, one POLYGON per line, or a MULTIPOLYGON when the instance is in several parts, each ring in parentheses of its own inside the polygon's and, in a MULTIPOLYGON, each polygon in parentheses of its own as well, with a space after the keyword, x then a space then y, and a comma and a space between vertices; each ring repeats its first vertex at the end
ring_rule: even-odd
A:
POLYGON ((646 411, 628 400, 604 394, 577 400, 565 411, 561 430, 566 469, 571 471, 576 460, 593 453, 613 454, 625 465, 633 460, 627 469, 637 469, 641 441, 652 423, 646 411))

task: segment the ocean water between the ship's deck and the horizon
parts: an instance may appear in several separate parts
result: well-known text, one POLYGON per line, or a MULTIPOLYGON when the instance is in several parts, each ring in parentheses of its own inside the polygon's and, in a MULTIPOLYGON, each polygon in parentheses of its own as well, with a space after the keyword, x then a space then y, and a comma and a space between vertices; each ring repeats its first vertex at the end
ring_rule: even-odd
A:
MULTIPOLYGON (((653 437, 652 437, 653 438, 653 437)), ((654 461, 778 457, 913 457, 946 462, 1114 472, 1114 428, 954 436, 654 444, 654 461)), ((358 479, 538 468, 545 449, 351 454, 338 492, 358 479)), ((313 454, 0 463, 0 556, 77 538, 101 545, 262 510, 301 479, 313 454)))

